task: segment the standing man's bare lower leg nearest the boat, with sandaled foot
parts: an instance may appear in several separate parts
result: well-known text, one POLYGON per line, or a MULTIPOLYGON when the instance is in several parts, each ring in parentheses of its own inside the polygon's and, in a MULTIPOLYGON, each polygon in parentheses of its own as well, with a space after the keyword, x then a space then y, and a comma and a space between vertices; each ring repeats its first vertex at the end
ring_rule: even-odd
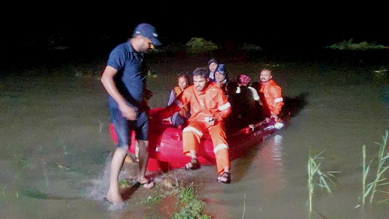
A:
POLYGON ((139 145, 139 173, 138 173, 138 182, 140 184, 144 184, 145 188, 151 188, 154 183, 150 182, 147 184, 149 181, 146 176, 146 168, 147 168, 147 161, 149 161, 149 141, 142 141, 142 140, 137 140, 138 145, 139 145))

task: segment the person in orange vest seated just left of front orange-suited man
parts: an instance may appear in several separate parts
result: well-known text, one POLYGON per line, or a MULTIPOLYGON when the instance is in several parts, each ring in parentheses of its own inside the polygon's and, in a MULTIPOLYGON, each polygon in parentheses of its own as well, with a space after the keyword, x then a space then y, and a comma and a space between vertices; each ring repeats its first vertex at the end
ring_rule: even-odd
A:
MULTIPOLYGON (((168 106, 172 104, 178 95, 189 85, 189 78, 186 73, 182 72, 177 76, 178 86, 174 87, 170 92, 168 106)), ((189 106, 185 105, 179 112, 175 112, 172 117, 167 118, 170 124, 178 128, 183 128, 186 126, 186 120, 190 117, 189 106)))

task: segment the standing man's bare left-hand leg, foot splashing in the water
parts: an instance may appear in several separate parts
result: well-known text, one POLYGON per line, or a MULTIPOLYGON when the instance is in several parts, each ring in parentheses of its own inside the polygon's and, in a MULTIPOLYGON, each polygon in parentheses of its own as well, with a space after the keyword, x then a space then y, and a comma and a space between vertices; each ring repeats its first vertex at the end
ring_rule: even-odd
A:
POLYGON ((108 201, 111 201, 115 205, 123 205, 123 199, 119 193, 119 185, 117 184, 117 179, 119 177, 119 172, 123 166, 124 158, 126 157, 128 151, 127 147, 116 148, 114 156, 111 161, 111 172, 110 172, 110 182, 107 196, 108 201))

